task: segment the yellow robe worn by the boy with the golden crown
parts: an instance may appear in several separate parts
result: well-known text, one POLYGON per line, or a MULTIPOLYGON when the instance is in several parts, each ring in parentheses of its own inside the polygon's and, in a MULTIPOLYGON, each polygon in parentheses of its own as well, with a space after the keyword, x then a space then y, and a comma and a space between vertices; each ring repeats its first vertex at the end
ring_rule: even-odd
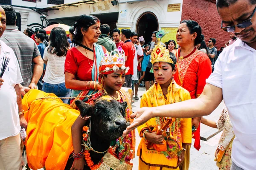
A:
MULTIPOLYGON (((173 82, 168 87, 168 94, 166 97, 167 100, 164 98, 162 89, 159 84, 153 85, 148 91, 146 91, 145 94, 143 94, 140 107, 157 107, 175 102, 181 102, 190 99, 190 94, 186 89, 173 82)), ((177 156, 173 158, 169 157, 168 159, 166 158, 166 155, 163 154, 163 152, 154 150, 152 147, 147 150, 147 143, 143 138, 143 130, 148 129, 151 131, 156 125, 157 118, 152 118, 145 124, 138 127, 138 132, 140 137, 142 137, 137 152, 137 156, 139 156, 139 170, 179 170, 179 167, 177 167, 177 156)), ((169 125, 169 127, 171 126, 172 125, 169 125)), ((191 127, 191 118, 180 119, 179 133, 177 133, 180 144, 182 142, 183 145, 191 145, 191 127)), ((180 146, 180 150, 182 149, 182 146, 180 146)))

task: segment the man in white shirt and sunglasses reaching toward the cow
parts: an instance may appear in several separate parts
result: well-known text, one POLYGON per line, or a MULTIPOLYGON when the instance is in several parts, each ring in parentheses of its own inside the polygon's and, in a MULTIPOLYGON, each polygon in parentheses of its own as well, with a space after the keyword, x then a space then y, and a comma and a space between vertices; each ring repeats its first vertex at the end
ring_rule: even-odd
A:
POLYGON ((238 37, 224 48, 197 99, 160 107, 141 108, 131 115, 133 128, 156 116, 199 117, 209 115, 224 99, 236 138, 231 170, 256 168, 256 0, 217 0, 221 28, 238 37))

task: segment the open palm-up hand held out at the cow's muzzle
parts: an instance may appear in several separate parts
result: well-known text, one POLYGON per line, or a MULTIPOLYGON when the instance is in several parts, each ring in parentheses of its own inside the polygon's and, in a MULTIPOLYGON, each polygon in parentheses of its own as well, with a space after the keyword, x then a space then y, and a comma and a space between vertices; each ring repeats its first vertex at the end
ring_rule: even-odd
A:
POLYGON ((138 126, 143 125, 145 122, 147 122, 149 119, 153 118, 153 108, 140 108, 138 111, 131 114, 131 119, 134 119, 134 121, 131 123, 130 126, 126 128, 126 130, 123 132, 122 136, 128 135, 128 133, 131 132, 131 130, 136 129, 138 126))

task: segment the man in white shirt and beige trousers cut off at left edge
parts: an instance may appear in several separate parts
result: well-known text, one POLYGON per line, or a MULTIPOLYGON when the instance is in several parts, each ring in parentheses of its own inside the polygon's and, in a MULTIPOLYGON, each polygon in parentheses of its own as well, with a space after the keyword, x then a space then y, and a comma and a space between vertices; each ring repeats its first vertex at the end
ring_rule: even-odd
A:
MULTIPOLYGON (((1 37, 6 28, 6 16, 2 7, 0 21, 1 37)), ((10 61, 0 78, 0 170, 21 170, 20 126, 27 126, 18 85, 23 79, 12 48, 0 40, 1 64, 4 57, 10 57, 10 61)))

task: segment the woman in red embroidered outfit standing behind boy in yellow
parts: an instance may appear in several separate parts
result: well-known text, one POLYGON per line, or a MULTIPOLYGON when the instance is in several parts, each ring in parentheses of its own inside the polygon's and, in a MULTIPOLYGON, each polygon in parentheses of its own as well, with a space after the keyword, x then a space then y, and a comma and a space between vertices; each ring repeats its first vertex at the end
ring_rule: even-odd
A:
MULTIPOLYGON (((183 20, 177 30, 176 39, 180 46, 172 52, 177 57, 177 73, 174 74, 175 82, 189 91, 191 99, 195 99, 202 93, 205 80, 212 73, 211 61, 207 54, 195 48, 196 44, 203 41, 202 30, 199 24, 192 20, 183 20)), ((192 136, 195 138, 194 147, 200 149, 200 117, 192 118, 192 136)), ((186 148, 186 155, 180 170, 189 169, 189 150, 186 148)))

